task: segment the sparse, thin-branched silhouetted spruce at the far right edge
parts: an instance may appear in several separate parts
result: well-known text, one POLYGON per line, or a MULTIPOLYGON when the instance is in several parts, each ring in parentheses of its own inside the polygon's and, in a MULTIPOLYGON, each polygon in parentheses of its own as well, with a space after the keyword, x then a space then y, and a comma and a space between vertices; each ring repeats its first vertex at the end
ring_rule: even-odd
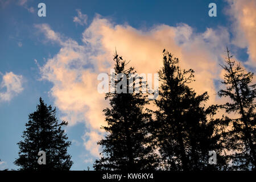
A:
POLYGON ((227 113, 237 113, 241 117, 230 119, 231 130, 225 134, 226 146, 233 151, 230 159, 233 162, 232 169, 255 169, 256 165, 256 119, 255 96, 256 84, 252 84, 254 73, 246 73, 245 69, 236 61, 232 61, 230 51, 225 65, 221 67, 225 71, 225 89, 218 92, 220 97, 228 97, 231 102, 221 105, 227 113))

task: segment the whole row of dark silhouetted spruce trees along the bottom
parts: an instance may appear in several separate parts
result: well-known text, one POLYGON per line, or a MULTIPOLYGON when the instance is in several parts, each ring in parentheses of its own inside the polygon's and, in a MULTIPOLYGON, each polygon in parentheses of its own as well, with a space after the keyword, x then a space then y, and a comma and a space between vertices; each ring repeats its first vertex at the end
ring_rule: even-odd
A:
MULTIPOLYGON (((159 70, 159 96, 148 100, 139 93, 106 93, 109 107, 103 110, 106 132, 98 141, 101 158, 96 171, 226 171, 255 170, 256 127, 254 73, 247 72, 232 59, 228 47, 223 69, 224 80, 216 94, 228 98, 222 105, 207 105, 207 90, 196 94, 189 84, 195 81, 193 69, 180 67, 179 58, 163 49, 163 66, 159 70), (147 108, 148 104, 156 110, 147 108), (217 112, 223 110, 220 118, 217 112), (230 118, 236 114, 237 118, 230 118), (217 162, 209 163, 209 151, 217 162)), ((115 74, 135 73, 117 52, 113 56, 115 74)), ((114 86, 120 80, 115 80, 114 86)), ((131 81, 135 86, 135 80, 131 81)), ((142 84, 142 82, 140 82, 142 84)), ((128 88, 127 88, 128 89, 128 88)), ((93 92, 93 91, 92 91, 93 92)), ((97 90, 94 90, 97 92, 97 90)), ((68 171, 72 167, 68 147, 71 145, 59 122, 56 109, 39 99, 36 111, 28 115, 23 140, 14 164, 25 171, 68 171), (38 152, 46 152, 46 164, 38 164, 38 152)))

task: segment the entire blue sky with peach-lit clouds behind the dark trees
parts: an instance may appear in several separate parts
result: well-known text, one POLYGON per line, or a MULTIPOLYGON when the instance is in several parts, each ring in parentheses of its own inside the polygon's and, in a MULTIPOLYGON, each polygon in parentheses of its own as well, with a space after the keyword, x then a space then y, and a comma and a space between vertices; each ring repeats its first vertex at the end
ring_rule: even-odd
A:
POLYGON ((71 169, 92 169, 108 106, 97 76, 110 72, 115 49, 138 73, 157 73, 168 49, 182 68, 195 70, 191 86, 207 91, 210 105, 226 101, 216 95, 226 46, 255 72, 255 0, 0 0, 0 169, 18 168, 16 143, 39 97, 69 123, 71 169), (46 17, 38 16, 40 2, 46 17))

